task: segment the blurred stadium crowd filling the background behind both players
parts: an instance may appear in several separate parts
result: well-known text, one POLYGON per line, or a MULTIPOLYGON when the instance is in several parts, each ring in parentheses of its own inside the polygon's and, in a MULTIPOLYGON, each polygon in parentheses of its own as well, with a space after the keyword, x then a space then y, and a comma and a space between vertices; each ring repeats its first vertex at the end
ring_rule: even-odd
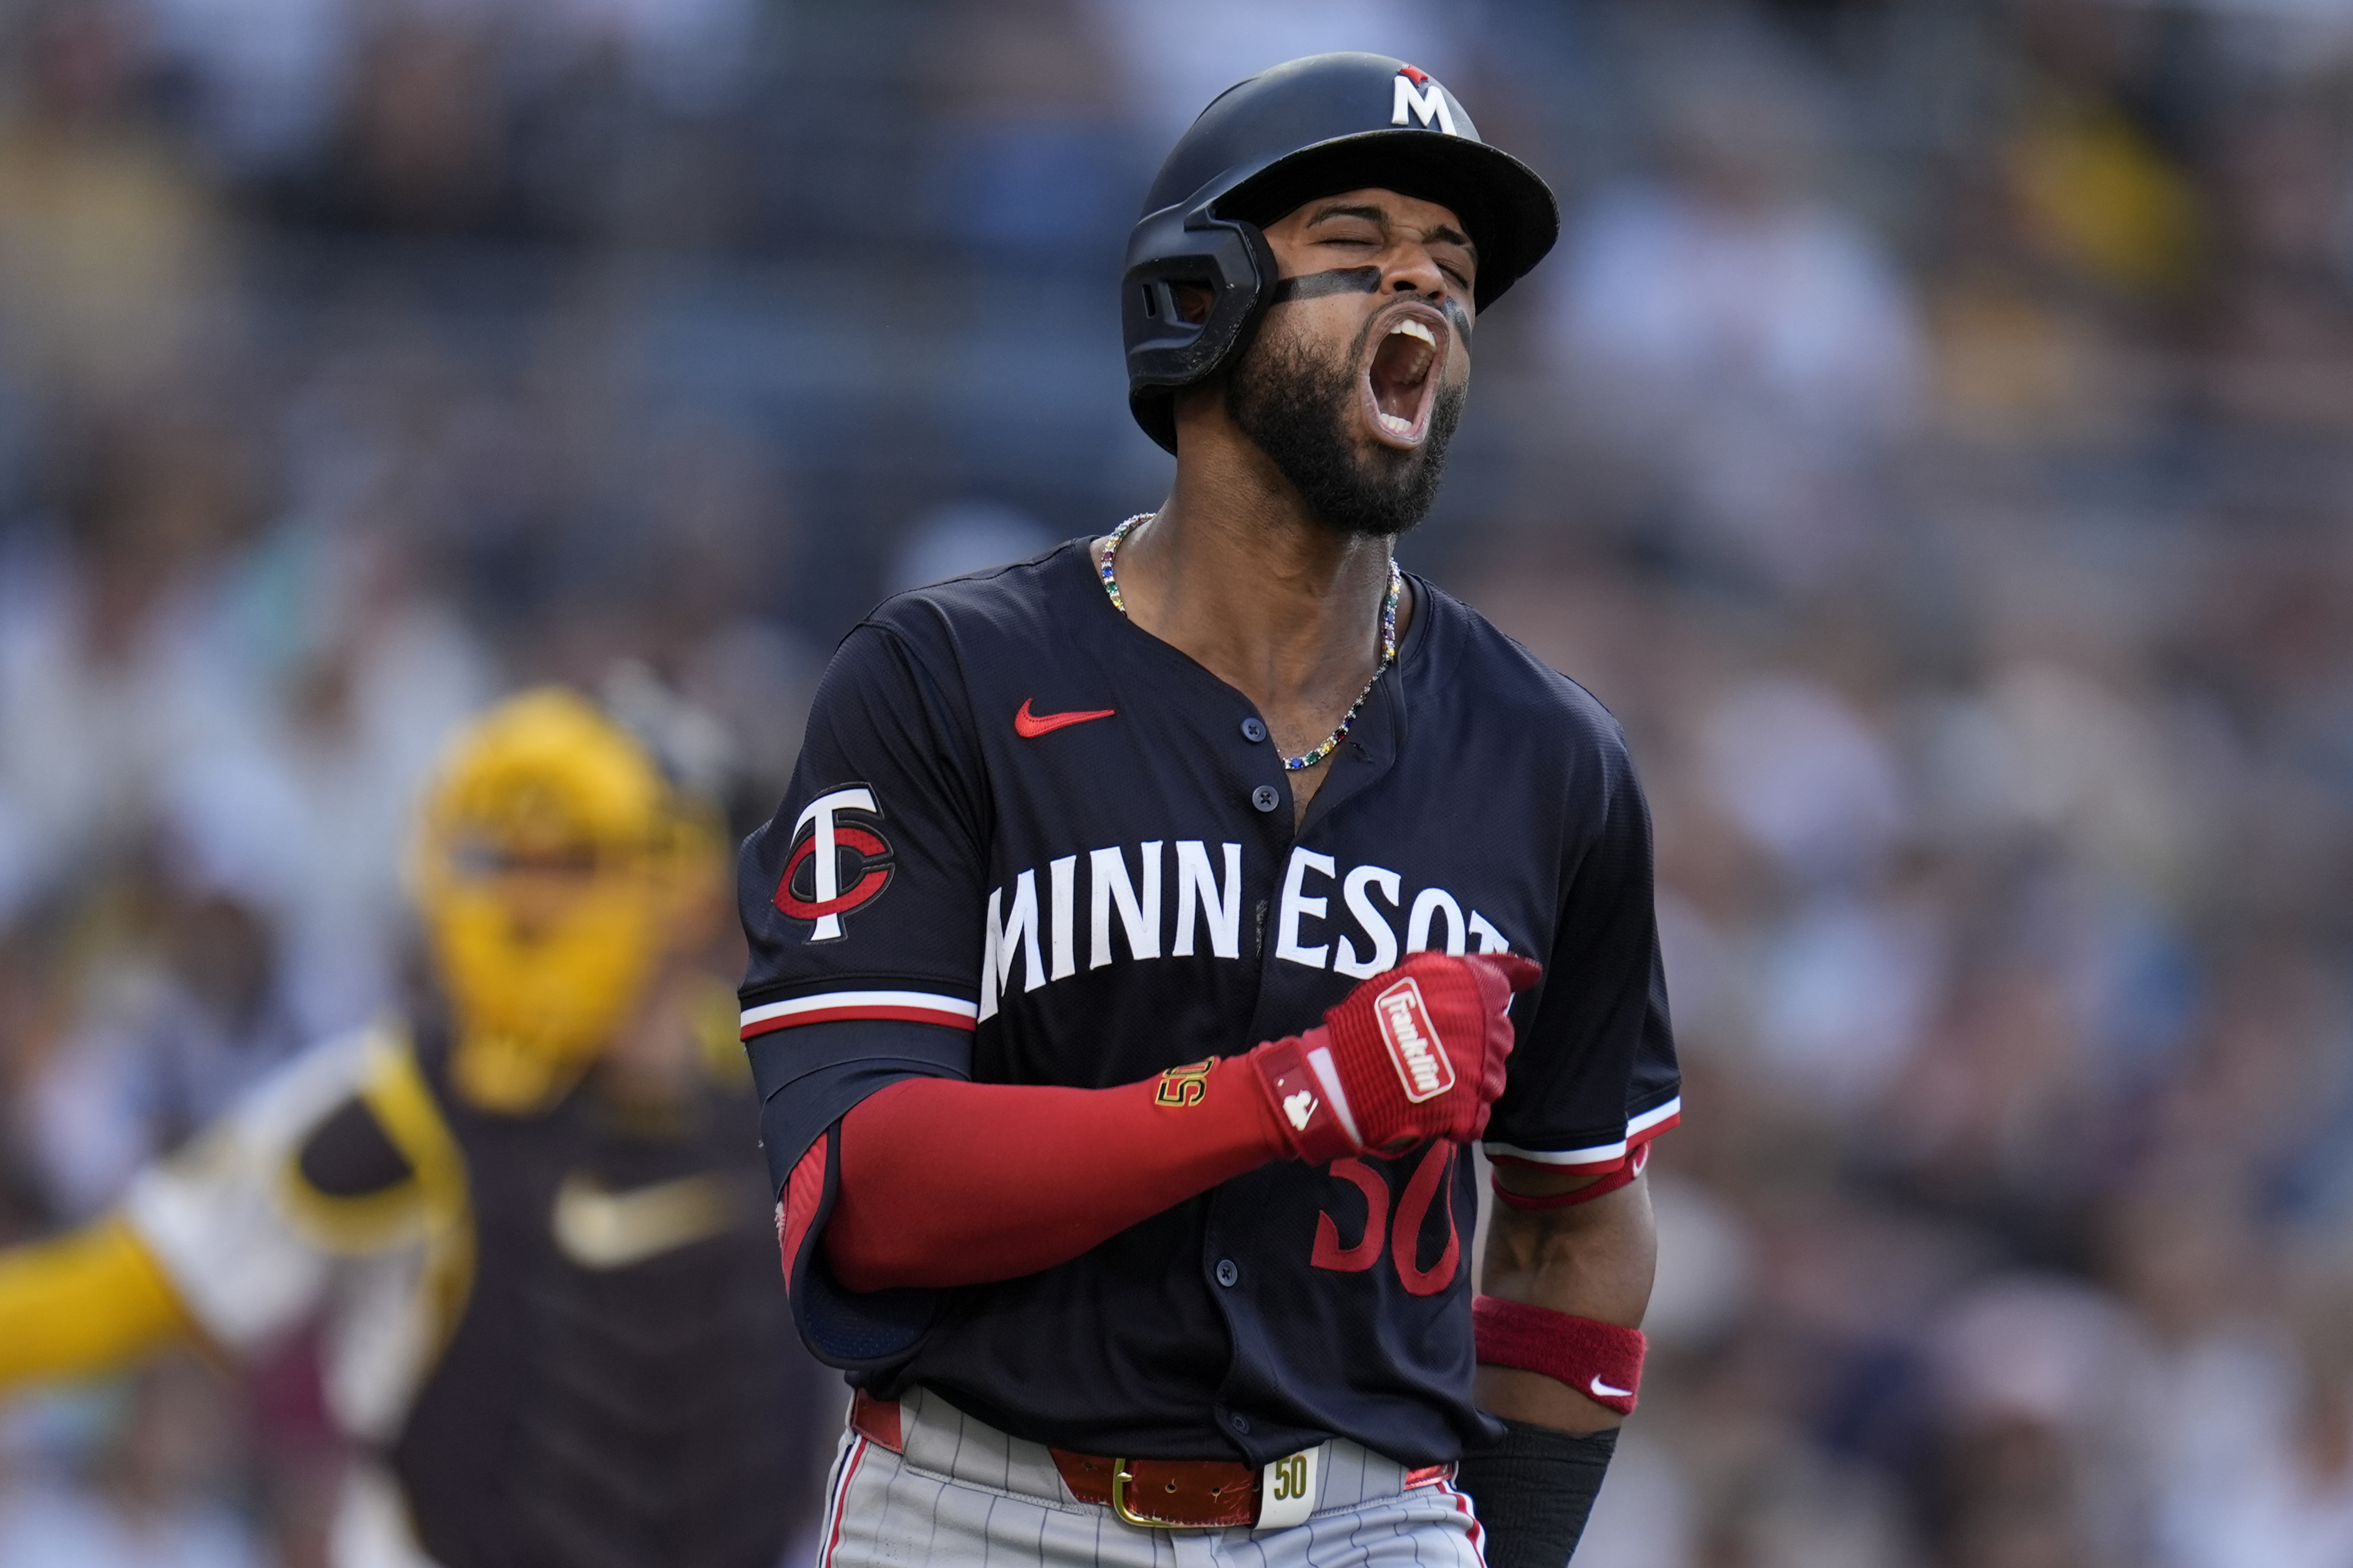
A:
MULTIPOLYGON (((414 983, 447 726, 765 816, 887 590, 1151 508, 1249 71, 1565 197, 1407 564, 1588 684, 1687 1121, 1586 1568, 2353 1568, 2353 5, 0 5, 0 1241, 414 983)), ((0 1568, 320 1561, 306 1347, 0 1413, 0 1568)))

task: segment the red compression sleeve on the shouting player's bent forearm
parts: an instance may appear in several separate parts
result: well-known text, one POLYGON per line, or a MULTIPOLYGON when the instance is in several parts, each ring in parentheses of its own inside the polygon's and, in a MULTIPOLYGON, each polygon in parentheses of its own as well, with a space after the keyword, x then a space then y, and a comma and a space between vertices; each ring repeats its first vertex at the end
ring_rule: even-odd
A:
POLYGON ((842 1117, 821 1246, 852 1291, 1016 1279, 1289 1152, 1247 1058, 1118 1088, 901 1079, 842 1117))

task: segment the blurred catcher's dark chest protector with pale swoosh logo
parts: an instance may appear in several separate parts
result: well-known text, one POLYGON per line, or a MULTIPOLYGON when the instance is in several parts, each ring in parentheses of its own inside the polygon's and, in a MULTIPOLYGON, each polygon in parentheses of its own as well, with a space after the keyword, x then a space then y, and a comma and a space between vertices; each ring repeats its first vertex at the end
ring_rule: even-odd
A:
POLYGON ((769 1568, 809 1422, 748 1105, 489 1117, 426 1072, 475 1218, 473 1291, 391 1455, 426 1552, 769 1568))

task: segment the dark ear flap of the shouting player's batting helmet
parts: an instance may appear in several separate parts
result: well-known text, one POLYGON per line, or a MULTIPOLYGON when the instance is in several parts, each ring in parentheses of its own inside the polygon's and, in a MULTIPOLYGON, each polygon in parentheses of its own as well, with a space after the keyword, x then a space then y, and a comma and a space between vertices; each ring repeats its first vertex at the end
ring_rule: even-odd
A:
POLYGON ((1249 343, 1273 299, 1275 252, 1257 223, 1167 207, 1136 223, 1127 256, 1127 402, 1146 433, 1176 451, 1174 393, 1207 381, 1249 343), (1186 310, 1181 284, 1209 296, 1207 313, 1186 310))

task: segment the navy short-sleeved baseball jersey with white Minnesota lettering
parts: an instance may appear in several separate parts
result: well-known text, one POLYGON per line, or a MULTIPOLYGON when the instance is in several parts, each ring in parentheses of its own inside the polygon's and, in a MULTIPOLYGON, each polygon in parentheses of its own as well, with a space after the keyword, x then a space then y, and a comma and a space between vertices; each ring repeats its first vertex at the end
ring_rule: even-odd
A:
MULTIPOLYGON (((1671 1126, 1624 738, 1475 611, 1412 595, 1297 830, 1249 698, 1132 625, 1085 543, 852 630, 739 875, 776 1180, 894 1079, 1134 1084, 1313 1027, 1419 947, 1546 966, 1492 1154, 1609 1171, 1671 1126)), ((807 1246, 793 1309, 878 1394, 922 1382, 1033 1441, 1264 1465, 1346 1436, 1428 1465, 1499 1432, 1471 1403, 1475 1213, 1464 1145, 1275 1161, 1002 1284, 852 1295, 807 1246)))

